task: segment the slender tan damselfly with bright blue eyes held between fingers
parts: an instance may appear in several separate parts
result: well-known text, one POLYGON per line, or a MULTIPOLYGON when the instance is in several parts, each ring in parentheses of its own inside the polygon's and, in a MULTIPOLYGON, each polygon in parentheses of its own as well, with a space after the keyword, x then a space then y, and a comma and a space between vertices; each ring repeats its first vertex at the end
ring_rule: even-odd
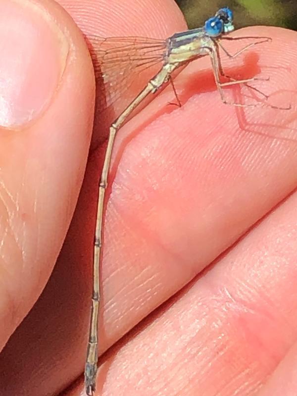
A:
POLYGON ((173 85, 172 73, 176 69, 182 68, 182 66, 188 64, 190 61, 206 55, 210 57, 215 84, 224 103, 241 107, 269 106, 278 109, 290 108, 290 106, 282 108, 268 104, 268 97, 265 94, 255 87, 248 85, 248 83, 259 79, 249 78, 245 80, 236 80, 223 72, 220 50, 229 58, 234 58, 255 45, 271 40, 268 37, 228 37, 228 34, 233 30, 233 13, 228 7, 224 7, 219 9, 215 16, 207 19, 203 27, 174 34, 167 40, 139 37, 103 39, 95 36, 87 36, 86 38, 90 45, 96 77, 103 81, 103 84, 106 86, 106 105, 112 103, 112 98, 108 97, 108 89, 112 87, 113 83, 125 84, 127 81, 126 76, 131 74, 133 67, 138 71, 143 71, 153 68, 158 64, 160 65, 159 71, 148 81, 144 88, 142 87, 142 90, 135 96, 135 99, 120 112, 120 115, 113 121, 109 129, 107 148, 99 181, 99 200, 94 241, 92 312, 85 366, 85 387, 88 396, 94 395, 98 369, 99 268, 103 233, 104 196, 107 187, 107 176, 110 167, 112 148, 119 128, 127 121, 133 110, 138 107, 149 94, 157 93, 165 83, 171 83, 177 104, 181 105, 173 85), (234 54, 230 54, 222 45, 223 40, 241 39, 251 39, 253 41, 234 54), (222 78, 227 79, 227 81, 221 82, 222 78), (228 102, 225 99, 224 87, 236 84, 247 85, 249 88, 259 93, 263 100, 255 102, 254 104, 228 102))

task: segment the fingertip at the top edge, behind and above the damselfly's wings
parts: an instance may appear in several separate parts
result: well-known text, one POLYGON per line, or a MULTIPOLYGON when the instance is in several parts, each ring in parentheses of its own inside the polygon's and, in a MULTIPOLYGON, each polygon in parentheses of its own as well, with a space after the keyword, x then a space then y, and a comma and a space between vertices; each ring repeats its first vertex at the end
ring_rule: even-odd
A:
POLYGON ((166 38, 187 29, 173 0, 59 0, 86 34, 166 38))

